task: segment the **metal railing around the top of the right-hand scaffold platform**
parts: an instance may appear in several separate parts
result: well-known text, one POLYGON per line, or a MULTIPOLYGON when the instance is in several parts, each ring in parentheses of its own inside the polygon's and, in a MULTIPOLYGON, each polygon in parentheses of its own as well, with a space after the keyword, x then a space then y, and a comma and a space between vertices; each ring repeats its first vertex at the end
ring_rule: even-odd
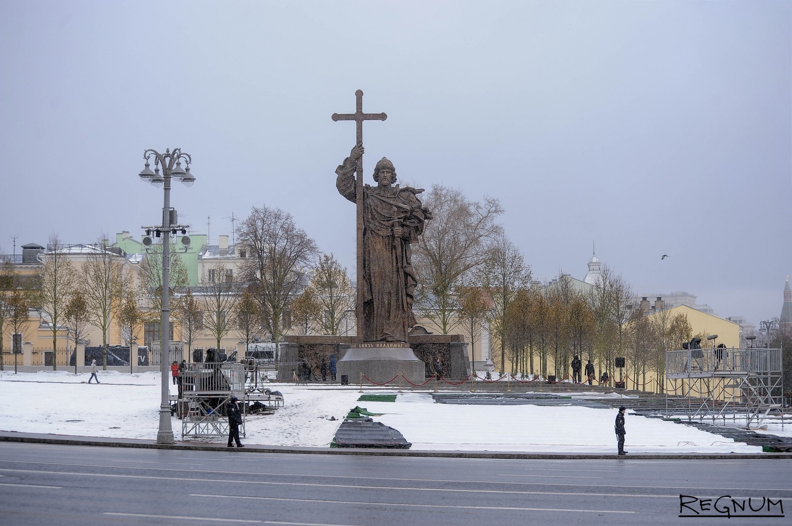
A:
POLYGON ((780 349, 691 349, 665 354, 667 377, 728 376, 782 371, 780 349))

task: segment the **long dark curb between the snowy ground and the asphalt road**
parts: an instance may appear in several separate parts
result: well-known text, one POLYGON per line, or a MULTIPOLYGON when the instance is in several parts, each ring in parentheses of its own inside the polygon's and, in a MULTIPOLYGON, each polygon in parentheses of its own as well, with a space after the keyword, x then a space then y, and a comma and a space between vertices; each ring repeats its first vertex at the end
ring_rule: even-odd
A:
POLYGON ((296 453, 303 455, 352 455, 352 456, 407 456, 432 458, 462 459, 510 459, 510 460, 776 460, 792 459, 789 453, 635 453, 627 456, 600 453, 527 453, 527 452, 486 452, 486 451, 413 451, 406 449, 382 448, 292 448, 286 446, 245 445, 242 451, 238 448, 227 448, 224 445, 197 445, 177 442, 175 444, 158 444, 156 441, 144 441, 127 438, 74 437, 68 435, 50 435, 36 433, 0 432, 0 441, 19 442, 24 444, 55 444, 82 445, 101 448, 142 448, 171 449, 175 451, 227 451, 235 453, 296 453))

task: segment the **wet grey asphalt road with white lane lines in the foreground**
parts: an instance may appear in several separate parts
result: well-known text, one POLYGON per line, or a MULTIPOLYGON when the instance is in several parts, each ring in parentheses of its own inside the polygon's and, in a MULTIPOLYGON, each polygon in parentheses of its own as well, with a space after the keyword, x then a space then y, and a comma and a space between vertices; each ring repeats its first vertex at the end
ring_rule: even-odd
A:
POLYGON ((0 442, 0 524, 690 524, 691 510, 719 517, 704 524, 790 524, 790 474, 792 460, 491 460, 0 442), (690 496, 683 506, 680 494, 690 496), (731 499, 718 501, 718 511, 714 501, 691 500, 723 495, 752 500, 746 511, 731 499))

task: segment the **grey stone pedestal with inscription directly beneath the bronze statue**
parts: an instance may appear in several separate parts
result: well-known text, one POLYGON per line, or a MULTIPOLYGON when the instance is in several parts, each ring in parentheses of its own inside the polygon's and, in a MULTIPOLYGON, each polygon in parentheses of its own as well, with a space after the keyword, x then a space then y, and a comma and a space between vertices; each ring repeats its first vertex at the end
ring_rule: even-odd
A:
MULTIPOLYGON (((350 384, 360 383, 361 373, 377 384, 392 380, 398 373, 413 384, 423 384, 425 380, 424 362, 416 358, 406 343, 353 343, 337 367, 338 379, 348 376, 350 384)), ((364 378, 365 384, 367 380, 364 378)))

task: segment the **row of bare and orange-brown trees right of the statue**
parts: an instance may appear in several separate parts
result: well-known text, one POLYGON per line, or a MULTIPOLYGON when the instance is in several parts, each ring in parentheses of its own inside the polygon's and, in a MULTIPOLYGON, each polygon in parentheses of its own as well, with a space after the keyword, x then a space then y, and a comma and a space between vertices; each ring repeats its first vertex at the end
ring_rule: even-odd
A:
MULTIPOLYGON (((468 199, 435 186, 425 199, 429 221, 413 262, 420 277, 417 307, 443 333, 462 331, 471 344, 489 328, 490 350, 501 374, 564 377, 574 355, 614 377, 626 358, 634 386, 648 373, 663 381, 664 352, 691 338, 683 315, 645 316, 621 275, 604 267, 588 292, 569 276, 532 279, 524 256, 497 223, 497 199, 468 199)), ((642 380, 641 380, 642 379, 642 380)))

